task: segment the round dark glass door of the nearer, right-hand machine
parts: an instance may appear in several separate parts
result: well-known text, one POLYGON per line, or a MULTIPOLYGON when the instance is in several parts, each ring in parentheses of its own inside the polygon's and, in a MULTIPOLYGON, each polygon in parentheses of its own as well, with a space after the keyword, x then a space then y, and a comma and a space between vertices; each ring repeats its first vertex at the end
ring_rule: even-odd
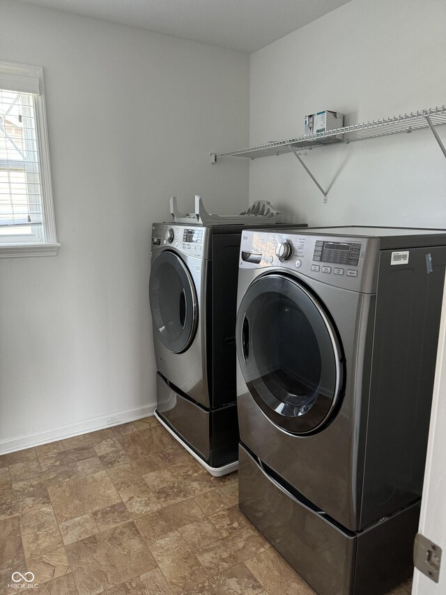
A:
POLYGON ((273 423, 296 435, 328 423, 344 360, 323 306, 296 278, 271 273, 248 287, 236 342, 249 393, 273 423))

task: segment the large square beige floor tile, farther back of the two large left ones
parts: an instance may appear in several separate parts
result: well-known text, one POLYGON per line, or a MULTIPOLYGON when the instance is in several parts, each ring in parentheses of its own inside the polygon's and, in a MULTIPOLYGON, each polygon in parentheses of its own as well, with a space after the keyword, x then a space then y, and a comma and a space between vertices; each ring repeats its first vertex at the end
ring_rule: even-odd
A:
POLYGON ((52 485, 48 488, 48 492, 59 522, 83 516, 121 501, 105 471, 52 485))

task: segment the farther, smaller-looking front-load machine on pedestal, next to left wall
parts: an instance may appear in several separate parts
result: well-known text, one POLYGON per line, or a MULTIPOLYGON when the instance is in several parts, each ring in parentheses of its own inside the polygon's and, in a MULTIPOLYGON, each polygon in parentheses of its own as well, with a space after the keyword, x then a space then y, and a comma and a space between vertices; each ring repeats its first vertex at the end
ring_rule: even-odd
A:
POLYGON ((230 223, 152 227, 155 415, 216 476, 238 468, 235 330, 242 230, 230 223))

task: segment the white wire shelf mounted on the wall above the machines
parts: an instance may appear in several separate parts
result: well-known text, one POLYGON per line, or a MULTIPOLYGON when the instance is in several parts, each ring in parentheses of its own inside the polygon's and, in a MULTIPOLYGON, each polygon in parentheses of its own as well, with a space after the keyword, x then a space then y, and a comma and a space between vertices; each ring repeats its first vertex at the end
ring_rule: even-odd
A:
POLYGON ((249 149, 238 149, 238 151, 229 151, 227 153, 211 153, 211 157, 213 158, 213 162, 222 157, 255 159, 257 157, 291 153, 293 149, 313 149, 317 146, 326 146, 340 142, 349 143, 355 140, 364 140, 385 135, 410 133, 412 130, 428 128, 429 120, 433 126, 446 124, 446 105, 429 107, 426 110, 410 112, 410 114, 401 114, 399 116, 390 116, 389 118, 354 124, 353 126, 344 126, 344 128, 337 128, 326 133, 303 135, 286 140, 259 144, 257 146, 251 146, 249 149))

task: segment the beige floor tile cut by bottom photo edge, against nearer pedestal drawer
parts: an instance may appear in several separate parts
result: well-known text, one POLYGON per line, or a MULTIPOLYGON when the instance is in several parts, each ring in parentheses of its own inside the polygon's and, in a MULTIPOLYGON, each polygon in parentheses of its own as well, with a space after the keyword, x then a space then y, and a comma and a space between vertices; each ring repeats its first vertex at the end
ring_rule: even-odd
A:
POLYGON ((270 595, 314 594, 314 590, 274 548, 247 559, 245 564, 270 595))

